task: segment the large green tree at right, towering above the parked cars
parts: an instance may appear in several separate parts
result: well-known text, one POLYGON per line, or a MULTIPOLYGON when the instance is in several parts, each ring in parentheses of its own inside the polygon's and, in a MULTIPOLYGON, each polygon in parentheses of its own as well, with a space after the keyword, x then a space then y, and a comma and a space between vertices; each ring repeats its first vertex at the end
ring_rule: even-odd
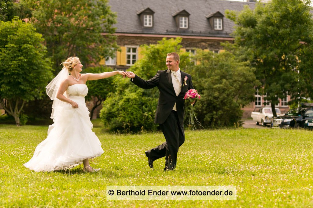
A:
POLYGON ((278 98, 287 93, 299 97, 300 86, 305 85, 298 70, 301 60, 313 55, 309 4, 308 0, 272 0, 257 3, 253 11, 248 6, 241 12, 226 11, 226 17, 236 24, 235 44, 255 67, 274 116, 278 98))

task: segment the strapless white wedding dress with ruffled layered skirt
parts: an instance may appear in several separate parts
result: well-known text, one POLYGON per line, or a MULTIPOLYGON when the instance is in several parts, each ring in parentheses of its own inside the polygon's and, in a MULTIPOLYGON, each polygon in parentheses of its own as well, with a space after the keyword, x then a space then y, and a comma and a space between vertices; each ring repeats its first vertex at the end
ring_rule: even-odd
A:
POLYGON ((64 102, 54 109, 54 124, 49 126, 48 137, 36 147, 25 167, 36 172, 68 169, 104 152, 91 130, 93 125, 85 103, 87 93, 85 84, 68 87, 66 97, 76 102, 78 108, 64 102))

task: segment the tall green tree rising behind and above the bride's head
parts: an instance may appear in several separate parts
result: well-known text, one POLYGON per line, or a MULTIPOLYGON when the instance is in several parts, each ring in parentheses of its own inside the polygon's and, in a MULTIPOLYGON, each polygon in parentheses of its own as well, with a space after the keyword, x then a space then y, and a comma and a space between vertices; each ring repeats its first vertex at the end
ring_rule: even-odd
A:
POLYGON ((107 0, 23 0, 32 8, 30 21, 45 39, 54 69, 69 56, 78 56, 85 67, 102 57, 113 57, 116 48, 115 14, 107 0), (105 32, 105 35, 104 35, 105 32))

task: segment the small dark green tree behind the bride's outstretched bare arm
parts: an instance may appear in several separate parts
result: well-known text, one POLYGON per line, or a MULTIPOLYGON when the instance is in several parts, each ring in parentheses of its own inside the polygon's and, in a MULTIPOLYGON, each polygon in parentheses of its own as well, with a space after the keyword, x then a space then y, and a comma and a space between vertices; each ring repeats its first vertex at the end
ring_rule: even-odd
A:
MULTIPOLYGON (((111 72, 110 67, 89 67, 83 70, 83 73, 102 73, 111 72)), ((95 109, 106 100, 110 92, 114 92, 113 77, 106 79, 93 80, 86 83, 88 86, 88 95, 86 96, 87 101, 93 101, 93 106, 90 111, 90 119, 92 119, 95 109)))

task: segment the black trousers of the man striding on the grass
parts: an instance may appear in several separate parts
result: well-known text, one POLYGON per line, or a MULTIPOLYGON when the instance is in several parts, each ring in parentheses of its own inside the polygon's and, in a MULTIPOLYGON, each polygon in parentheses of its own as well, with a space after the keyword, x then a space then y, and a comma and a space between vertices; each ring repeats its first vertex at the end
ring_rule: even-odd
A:
POLYGON ((174 110, 160 127, 166 142, 148 151, 149 157, 155 161, 165 156, 165 169, 171 170, 177 163, 178 148, 185 141, 184 128, 180 125, 177 112, 174 110))

